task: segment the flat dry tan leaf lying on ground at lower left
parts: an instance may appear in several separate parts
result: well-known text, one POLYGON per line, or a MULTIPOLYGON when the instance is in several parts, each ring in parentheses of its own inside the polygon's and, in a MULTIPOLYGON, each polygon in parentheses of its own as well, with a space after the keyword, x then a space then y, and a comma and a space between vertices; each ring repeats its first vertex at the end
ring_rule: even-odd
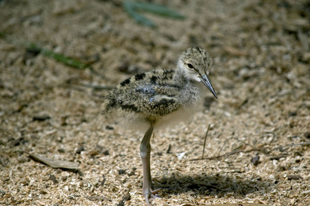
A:
MULTIPOLYGON (((25 151, 23 151, 23 152, 25 152, 25 151)), ((63 161, 63 160, 59 160, 59 159, 49 159, 46 157, 40 157, 38 155, 30 154, 29 152, 25 152, 25 153, 27 153, 30 157, 32 157, 32 159, 37 160, 37 161, 41 161, 41 163, 45 163, 45 165, 49 165, 52 168, 63 168, 63 169, 67 169, 67 170, 77 170, 79 168, 79 164, 74 163, 72 161, 63 161)))

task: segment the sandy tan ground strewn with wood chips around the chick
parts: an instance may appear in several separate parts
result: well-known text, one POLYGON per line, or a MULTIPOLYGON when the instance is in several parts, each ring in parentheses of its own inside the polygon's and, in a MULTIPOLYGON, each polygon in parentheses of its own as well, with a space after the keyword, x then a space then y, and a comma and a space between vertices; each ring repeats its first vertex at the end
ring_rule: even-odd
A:
POLYGON ((117 205, 127 197, 125 205, 143 205, 143 133, 99 121, 103 87, 174 67, 199 46, 214 58, 218 100, 209 93, 194 119, 155 132, 152 175, 163 198, 152 205, 310 205, 309 1, 152 2, 186 19, 143 13, 157 25, 150 28, 122 1, 0 1, 0 204, 117 205), (92 69, 65 66, 31 44, 92 69), (209 124, 205 159, 193 161, 209 124))

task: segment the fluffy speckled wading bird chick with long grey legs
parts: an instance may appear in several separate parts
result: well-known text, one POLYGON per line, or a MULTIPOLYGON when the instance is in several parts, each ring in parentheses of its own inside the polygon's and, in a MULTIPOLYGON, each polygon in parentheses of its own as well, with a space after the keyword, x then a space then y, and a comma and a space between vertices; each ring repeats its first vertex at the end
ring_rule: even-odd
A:
POLYGON ((139 73, 118 84, 101 105, 104 122, 118 122, 127 128, 147 130, 141 141, 143 196, 158 198, 150 171, 149 140, 154 128, 189 119, 203 106, 205 87, 217 98, 208 78, 212 60, 199 47, 186 49, 175 69, 139 73))

